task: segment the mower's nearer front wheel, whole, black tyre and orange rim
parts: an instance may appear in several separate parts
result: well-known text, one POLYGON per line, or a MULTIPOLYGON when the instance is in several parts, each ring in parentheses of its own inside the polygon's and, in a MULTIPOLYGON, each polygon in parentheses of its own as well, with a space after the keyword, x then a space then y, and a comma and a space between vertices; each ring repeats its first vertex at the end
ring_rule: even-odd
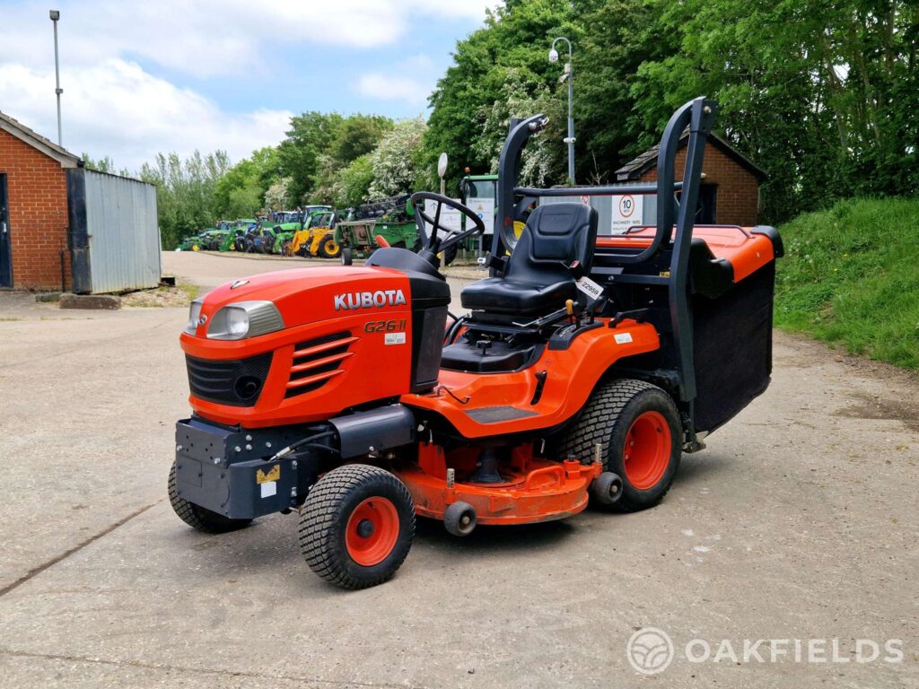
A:
POLYGON ((303 558, 326 582, 364 589, 391 578, 412 548, 414 503, 401 480, 365 464, 329 471, 300 517, 303 558))

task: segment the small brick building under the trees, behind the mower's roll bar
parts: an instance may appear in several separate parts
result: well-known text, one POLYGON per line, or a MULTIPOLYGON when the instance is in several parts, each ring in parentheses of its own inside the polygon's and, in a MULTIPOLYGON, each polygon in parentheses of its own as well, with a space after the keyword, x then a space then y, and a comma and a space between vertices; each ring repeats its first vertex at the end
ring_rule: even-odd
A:
MULTIPOLYGON (((676 178, 683 177, 686 165, 686 141, 676 152, 676 178)), ((619 182, 657 181, 657 154, 659 146, 641 153, 616 171, 619 182)), ((759 185, 766 173, 753 161, 732 148, 731 144, 715 134, 709 134, 702 164, 702 186, 699 190, 698 223, 724 225, 756 224, 759 210, 759 185)))

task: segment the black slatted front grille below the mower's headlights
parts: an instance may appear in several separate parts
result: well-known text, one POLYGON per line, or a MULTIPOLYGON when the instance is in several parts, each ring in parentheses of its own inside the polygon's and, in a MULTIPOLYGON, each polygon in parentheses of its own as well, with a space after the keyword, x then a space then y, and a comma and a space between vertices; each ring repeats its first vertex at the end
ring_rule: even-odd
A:
POLYGON ((201 400, 230 404, 234 407, 251 407, 265 385, 271 352, 246 359, 199 359, 185 357, 188 368, 188 387, 191 394, 201 400))

